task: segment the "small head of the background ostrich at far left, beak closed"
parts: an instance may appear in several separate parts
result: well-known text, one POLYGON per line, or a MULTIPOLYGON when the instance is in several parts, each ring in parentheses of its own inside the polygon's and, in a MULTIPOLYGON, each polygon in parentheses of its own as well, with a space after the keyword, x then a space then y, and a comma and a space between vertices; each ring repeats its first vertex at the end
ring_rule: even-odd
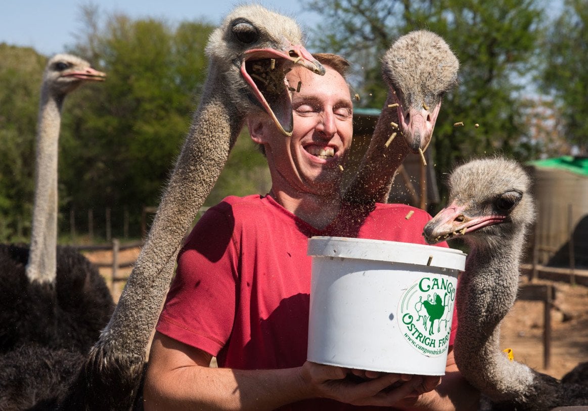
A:
POLYGON ((71 54, 57 54, 47 62, 43 82, 55 95, 64 96, 86 81, 104 81, 106 74, 71 54))

